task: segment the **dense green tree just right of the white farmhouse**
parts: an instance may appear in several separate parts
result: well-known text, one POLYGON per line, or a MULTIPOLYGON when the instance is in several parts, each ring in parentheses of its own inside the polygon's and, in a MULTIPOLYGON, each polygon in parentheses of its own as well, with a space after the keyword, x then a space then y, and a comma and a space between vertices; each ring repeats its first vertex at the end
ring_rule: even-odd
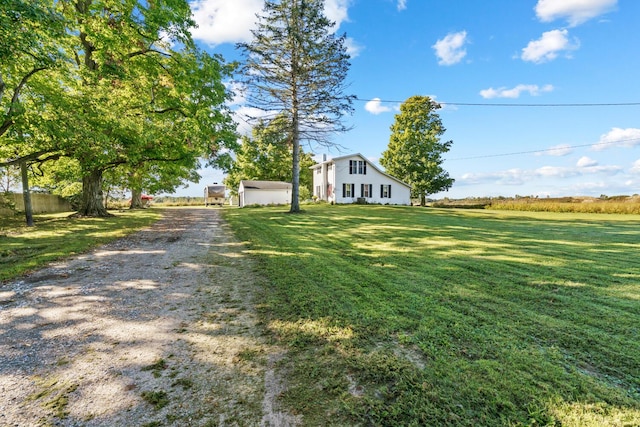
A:
POLYGON ((380 164, 386 172, 411 185, 424 206, 426 196, 448 190, 454 179, 442 168, 442 155, 453 141, 440 141, 445 128, 435 112, 440 105, 428 96, 412 96, 400 106, 380 164))

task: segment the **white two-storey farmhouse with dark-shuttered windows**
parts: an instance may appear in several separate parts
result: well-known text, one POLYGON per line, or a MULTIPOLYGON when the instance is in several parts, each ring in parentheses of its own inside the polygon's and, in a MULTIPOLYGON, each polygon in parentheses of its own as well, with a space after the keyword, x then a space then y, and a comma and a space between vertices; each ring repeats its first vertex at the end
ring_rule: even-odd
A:
POLYGON ((382 172, 362 154, 334 157, 311 167, 313 195, 333 203, 410 205, 411 187, 382 172))

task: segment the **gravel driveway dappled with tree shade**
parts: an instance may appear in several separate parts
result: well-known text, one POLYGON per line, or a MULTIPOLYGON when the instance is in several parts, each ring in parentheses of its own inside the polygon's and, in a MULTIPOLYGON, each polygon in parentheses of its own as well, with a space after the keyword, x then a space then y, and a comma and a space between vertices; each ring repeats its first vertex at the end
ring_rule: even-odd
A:
POLYGON ((0 426, 298 425, 216 209, 0 286, 0 426))

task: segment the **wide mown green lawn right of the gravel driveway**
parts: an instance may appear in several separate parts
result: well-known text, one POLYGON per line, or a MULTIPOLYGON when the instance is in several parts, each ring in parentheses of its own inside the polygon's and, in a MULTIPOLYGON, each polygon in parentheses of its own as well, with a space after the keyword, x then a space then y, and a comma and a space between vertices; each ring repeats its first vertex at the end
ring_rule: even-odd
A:
POLYGON ((306 425, 640 425, 640 216, 227 210, 306 425))

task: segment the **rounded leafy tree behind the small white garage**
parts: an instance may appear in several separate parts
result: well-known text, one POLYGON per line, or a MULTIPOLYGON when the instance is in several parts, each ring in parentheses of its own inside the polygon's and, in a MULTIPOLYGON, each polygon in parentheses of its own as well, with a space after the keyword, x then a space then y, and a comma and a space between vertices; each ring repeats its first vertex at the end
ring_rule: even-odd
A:
MULTIPOLYGON (((251 137, 242 137, 236 158, 224 180, 232 194, 237 193, 240 181, 245 179, 291 182, 293 150, 279 129, 277 120, 271 123, 260 121, 253 127, 251 137)), ((300 194, 311 194, 313 177, 309 168, 314 163, 311 155, 300 149, 300 194)))

